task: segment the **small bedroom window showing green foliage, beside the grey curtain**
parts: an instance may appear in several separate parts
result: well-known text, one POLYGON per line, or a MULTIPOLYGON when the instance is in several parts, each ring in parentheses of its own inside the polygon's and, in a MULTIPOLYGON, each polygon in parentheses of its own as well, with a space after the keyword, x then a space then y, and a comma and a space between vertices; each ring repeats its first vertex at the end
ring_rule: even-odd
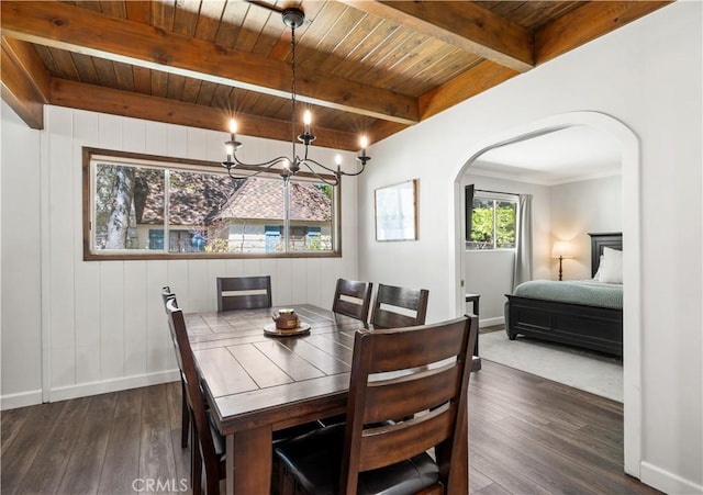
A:
POLYGON ((467 249, 515 248, 516 198, 507 193, 467 188, 466 201, 467 249))

